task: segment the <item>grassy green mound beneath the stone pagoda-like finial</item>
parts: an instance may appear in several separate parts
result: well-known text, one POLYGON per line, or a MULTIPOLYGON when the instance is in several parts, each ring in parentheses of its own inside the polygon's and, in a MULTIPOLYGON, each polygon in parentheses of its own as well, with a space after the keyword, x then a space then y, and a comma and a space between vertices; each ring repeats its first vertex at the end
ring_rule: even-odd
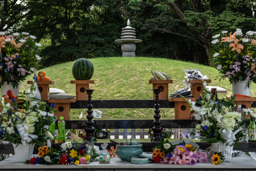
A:
MULTIPOLYGON (((218 94, 219 98, 230 97, 232 87, 229 81, 219 79, 215 68, 183 62, 177 60, 147 58, 147 57, 108 57, 90 59, 94 65, 94 75, 91 80, 91 89, 95 89, 92 99, 153 99, 152 84, 148 80, 152 77, 151 70, 158 70, 169 74, 173 84, 169 84, 169 94, 182 87, 182 80, 185 78, 183 69, 196 69, 207 75, 211 79, 212 86, 223 87, 227 90, 226 94, 218 94)), ((45 71, 54 85, 66 91, 69 95, 75 95, 75 84, 70 84, 74 80, 72 66, 74 62, 54 65, 42 69, 45 71)), ((32 76, 27 80, 32 80, 32 76)), ((27 80, 22 82, 20 89, 27 90, 27 80)), ((251 95, 255 96, 255 84, 251 86, 251 95)), ((83 109, 71 109, 71 118, 78 119, 83 109)), ((102 109, 98 109, 102 110, 102 109)), ((103 109, 106 115, 103 119, 153 119, 154 109, 103 109)), ((162 119, 174 119, 174 109, 163 109, 160 112, 162 119)), ((84 116, 85 117, 85 116, 84 116)))

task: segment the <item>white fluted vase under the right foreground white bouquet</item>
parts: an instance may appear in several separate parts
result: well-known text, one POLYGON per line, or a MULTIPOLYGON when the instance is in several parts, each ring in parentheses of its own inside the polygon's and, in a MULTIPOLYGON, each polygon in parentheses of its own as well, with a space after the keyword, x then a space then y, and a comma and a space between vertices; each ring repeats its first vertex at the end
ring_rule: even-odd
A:
POLYGON ((218 142, 218 143, 213 143, 213 145, 215 146, 215 151, 217 152, 223 152, 223 155, 225 157, 224 161, 231 161, 232 160, 232 151, 233 151, 233 147, 229 146, 227 143, 222 143, 222 142, 218 142))

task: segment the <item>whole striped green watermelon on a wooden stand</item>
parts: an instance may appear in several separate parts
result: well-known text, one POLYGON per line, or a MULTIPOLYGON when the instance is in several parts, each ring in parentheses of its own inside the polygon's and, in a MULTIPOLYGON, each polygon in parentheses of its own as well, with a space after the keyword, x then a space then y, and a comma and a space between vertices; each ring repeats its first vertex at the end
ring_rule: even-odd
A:
POLYGON ((75 80, 90 80, 93 77, 93 64, 85 58, 75 61, 72 73, 75 80))

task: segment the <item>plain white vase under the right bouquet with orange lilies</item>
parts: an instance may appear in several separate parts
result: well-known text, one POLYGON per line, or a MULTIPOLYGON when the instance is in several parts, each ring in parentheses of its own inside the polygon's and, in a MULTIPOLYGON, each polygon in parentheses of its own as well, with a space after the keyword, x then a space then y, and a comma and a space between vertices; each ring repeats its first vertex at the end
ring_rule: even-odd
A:
POLYGON ((251 96, 251 83, 247 82, 247 81, 239 81, 237 83, 234 84, 234 82, 232 83, 232 94, 243 94, 243 95, 248 95, 251 96), (249 88, 248 88, 248 83, 250 84, 249 88))

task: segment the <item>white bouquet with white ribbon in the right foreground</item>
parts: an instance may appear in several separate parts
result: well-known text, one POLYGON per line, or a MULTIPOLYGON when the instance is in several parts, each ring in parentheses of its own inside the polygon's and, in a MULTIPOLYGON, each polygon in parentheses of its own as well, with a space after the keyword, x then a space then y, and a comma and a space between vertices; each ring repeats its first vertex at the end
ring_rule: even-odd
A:
POLYGON ((201 121, 201 124, 196 125, 196 129, 200 130, 200 138, 209 144, 216 143, 214 144, 215 147, 219 148, 217 152, 224 145, 225 159, 229 160, 227 155, 230 155, 230 151, 232 153, 233 145, 238 146, 237 141, 248 141, 249 139, 245 130, 245 122, 247 121, 244 119, 245 116, 250 114, 254 117, 255 115, 251 109, 243 109, 242 114, 234 111, 235 96, 231 97, 230 100, 219 99, 215 101, 215 95, 207 91, 205 82, 203 86, 204 93, 197 102, 201 107, 196 106, 196 102, 183 98, 194 110, 195 119, 201 121))

